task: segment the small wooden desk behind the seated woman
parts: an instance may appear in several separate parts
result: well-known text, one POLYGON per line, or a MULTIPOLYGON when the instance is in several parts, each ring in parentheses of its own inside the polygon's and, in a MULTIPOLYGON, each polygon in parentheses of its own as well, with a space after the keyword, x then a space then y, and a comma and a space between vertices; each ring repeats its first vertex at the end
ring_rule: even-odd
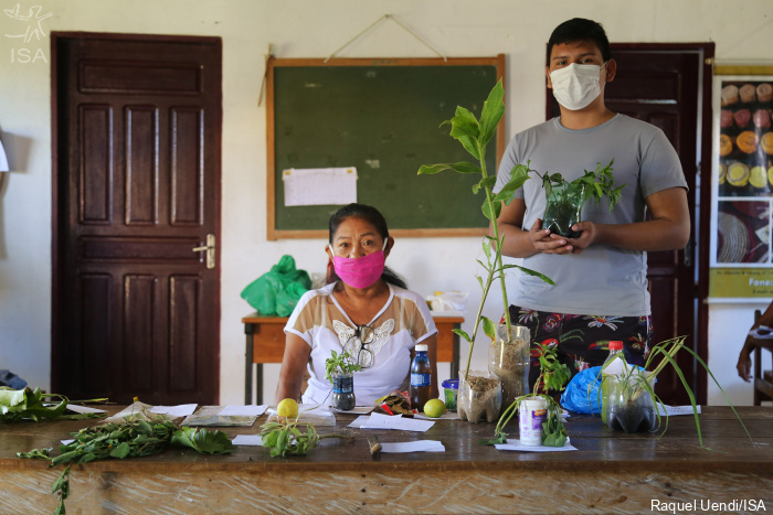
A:
MULTIPOLYGON (((451 377, 458 377, 459 336, 453 332, 459 329, 460 316, 433 316, 437 328, 437 362, 451 362, 451 377)), ((256 312, 242 319, 246 334, 244 354, 244 404, 252 404, 253 365, 255 366, 255 401, 263 399, 263 364, 282 363, 285 354, 286 316, 260 316, 256 312)))

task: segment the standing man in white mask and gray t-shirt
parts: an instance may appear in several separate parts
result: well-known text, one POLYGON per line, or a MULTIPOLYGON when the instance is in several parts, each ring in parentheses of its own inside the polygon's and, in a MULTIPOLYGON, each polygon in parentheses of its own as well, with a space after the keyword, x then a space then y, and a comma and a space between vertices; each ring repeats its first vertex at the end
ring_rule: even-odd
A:
MULTIPOLYGON (((575 18, 555 28, 546 73, 561 116, 512 138, 495 187, 516 164, 571 182, 613 159, 615 184, 625 184, 612 213, 606 199, 585 204, 572 226, 578 238, 541 228, 547 201, 539 179, 516 191, 498 218, 502 254, 555 281, 521 275, 510 316, 529 326, 532 342, 558 345, 572 374, 601 365, 615 340, 628 363, 644 363, 652 333, 646 253, 684 248, 690 236, 687 182, 674 147, 660 129, 604 104, 616 71, 601 24, 575 18)), ((533 382, 539 363, 531 369, 533 382)))

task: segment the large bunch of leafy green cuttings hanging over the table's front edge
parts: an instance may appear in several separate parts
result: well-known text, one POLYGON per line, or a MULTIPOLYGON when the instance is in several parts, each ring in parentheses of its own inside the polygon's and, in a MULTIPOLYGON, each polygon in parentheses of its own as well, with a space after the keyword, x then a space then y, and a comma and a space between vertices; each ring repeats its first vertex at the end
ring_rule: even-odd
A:
POLYGON ((60 446, 61 454, 51 458, 53 449, 33 449, 18 452, 19 458, 51 460, 49 466, 67 464, 53 485, 53 494, 60 497, 54 514, 66 513, 64 500, 70 496, 70 468, 73 463, 87 463, 94 460, 136 458, 158 454, 171 446, 190 447, 205 454, 227 454, 235 450, 229 437, 205 429, 180 429, 165 416, 146 414, 150 421, 129 419, 117 423, 105 423, 70 433, 74 440, 60 446))

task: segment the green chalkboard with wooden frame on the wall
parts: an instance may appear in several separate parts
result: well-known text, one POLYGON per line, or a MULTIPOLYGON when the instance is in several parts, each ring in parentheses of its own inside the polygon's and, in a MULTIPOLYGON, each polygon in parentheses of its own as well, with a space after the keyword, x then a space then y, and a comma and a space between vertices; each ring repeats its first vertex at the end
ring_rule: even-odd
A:
MULTIPOLYGON (((338 205, 285 206, 287 169, 357 169, 357 201, 378 207, 390 232, 407 236, 481 234, 479 176, 417 175, 422 164, 472 161, 441 122, 464 106, 479 116, 504 74, 504 58, 272 60, 268 101, 268 238, 327 235, 338 205)), ((496 173, 500 125, 488 150, 496 173)))

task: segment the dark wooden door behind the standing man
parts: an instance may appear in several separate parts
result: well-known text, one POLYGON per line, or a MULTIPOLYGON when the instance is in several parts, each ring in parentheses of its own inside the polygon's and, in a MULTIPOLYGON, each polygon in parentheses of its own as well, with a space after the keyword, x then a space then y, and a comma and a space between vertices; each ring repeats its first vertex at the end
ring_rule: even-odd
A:
MULTIPOLYGON (((710 66, 713 44, 613 44, 612 56, 617 62, 615 79, 606 85, 607 107, 660 128, 679 154, 690 189, 691 235, 684 250, 647 254, 649 292, 653 310, 653 343, 687 335, 686 345, 708 361, 705 331, 698 323, 699 291, 696 287, 698 253, 696 251, 696 189, 701 162, 710 170, 711 104, 710 66), (710 126, 709 126, 710 127, 710 126)), ((549 115, 559 108, 549 94, 549 115)), ((707 173, 708 176, 708 173, 707 173)), ((706 184, 703 184, 706 187, 706 184)), ((659 362, 659 360, 658 360, 659 362)), ((687 352, 677 356, 685 377, 698 396, 706 399, 706 374, 696 369, 695 358, 687 352)), ((668 366, 660 375, 656 391, 667 404, 689 404, 677 374, 668 366)))

